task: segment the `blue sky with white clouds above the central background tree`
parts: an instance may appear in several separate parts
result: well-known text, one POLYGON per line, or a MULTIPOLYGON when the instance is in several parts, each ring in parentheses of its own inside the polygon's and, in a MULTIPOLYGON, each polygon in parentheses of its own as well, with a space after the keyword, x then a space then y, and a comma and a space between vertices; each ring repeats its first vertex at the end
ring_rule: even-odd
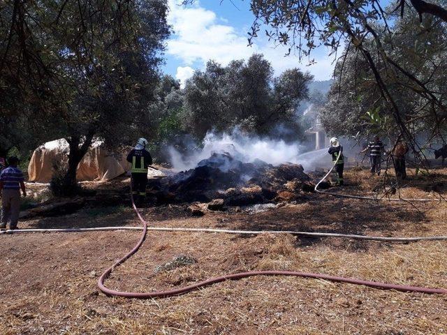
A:
POLYGON ((233 59, 247 59, 254 52, 263 53, 272 64, 275 74, 287 68, 298 67, 309 71, 316 80, 332 77, 333 57, 328 57, 325 47, 315 50, 312 58, 316 64, 308 66, 305 59, 300 64, 298 57, 284 57, 286 48, 274 47, 262 34, 247 46, 247 31, 254 16, 249 10, 249 1, 201 0, 190 6, 179 6, 179 0, 168 0, 168 22, 174 30, 167 43, 163 72, 184 82, 193 70, 203 69, 209 59, 226 65, 233 59), (237 6, 237 8, 235 8, 237 6))

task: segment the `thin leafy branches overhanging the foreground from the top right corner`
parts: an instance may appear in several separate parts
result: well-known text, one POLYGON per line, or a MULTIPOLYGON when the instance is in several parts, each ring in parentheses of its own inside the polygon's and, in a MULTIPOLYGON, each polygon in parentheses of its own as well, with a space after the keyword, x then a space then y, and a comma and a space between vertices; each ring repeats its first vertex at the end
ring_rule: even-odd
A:
MULTIPOLYGON (((319 45, 326 45, 337 54, 339 47, 346 50, 357 50, 372 71, 379 94, 386 101, 388 114, 392 117, 400 134, 411 143, 413 151, 417 151, 415 137, 409 125, 402 118, 402 108, 393 95, 393 87, 400 85, 408 94, 425 98, 430 108, 426 112, 432 114, 437 124, 445 124, 447 104, 439 92, 432 87, 432 81, 425 82, 416 69, 406 68, 399 64, 391 49, 393 45, 393 25, 397 13, 403 17, 405 13, 423 23, 430 17, 437 24, 447 23, 446 1, 427 3, 423 0, 394 1, 390 8, 382 8, 379 0, 251 0, 251 10, 255 15, 254 24, 249 33, 252 42, 258 36, 263 25, 269 29, 266 34, 272 40, 289 47, 289 52, 298 52, 300 58, 309 57, 312 63, 312 51, 319 45), (376 61, 374 60, 376 58, 376 61), (378 64, 380 66, 378 66, 378 64), (385 76, 394 77, 386 81, 385 76), (405 79, 401 85, 400 80, 405 79)), ((411 36, 411 31, 406 31, 411 36)), ((428 45, 430 49, 433 45, 428 45)), ((338 59, 343 64, 344 57, 338 59)), ((342 66, 342 70, 344 70, 342 66)), ((429 75, 439 73, 439 64, 435 63, 429 75)), ((437 124, 432 124, 436 128, 437 124)))

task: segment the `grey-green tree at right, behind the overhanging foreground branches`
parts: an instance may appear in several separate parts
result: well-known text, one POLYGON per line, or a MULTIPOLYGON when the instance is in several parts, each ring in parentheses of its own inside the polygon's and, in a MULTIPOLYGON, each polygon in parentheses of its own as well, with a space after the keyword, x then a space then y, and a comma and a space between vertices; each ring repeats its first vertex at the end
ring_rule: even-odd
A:
MULTIPOLYGON (((447 75, 439 69, 447 65, 447 25, 433 17, 424 17, 421 28, 410 10, 395 20, 393 40, 383 45, 385 52, 393 55, 397 66, 411 71, 436 92, 439 101, 446 101, 447 75)), ((367 38, 363 44, 369 50, 374 48, 372 38, 367 38)), ((342 59, 335 68, 336 80, 329 101, 321 111, 325 128, 337 135, 395 135, 398 125, 390 117, 390 106, 381 95, 367 61, 353 48, 347 49, 342 59)), ((372 59, 374 66, 380 68, 381 58, 374 55, 372 59)), ((430 96, 414 93, 417 87, 413 80, 402 73, 386 70, 381 71, 381 77, 393 101, 399 105, 400 117, 412 136, 426 132, 431 133, 430 139, 444 133, 446 124, 440 120, 439 109, 430 96)))

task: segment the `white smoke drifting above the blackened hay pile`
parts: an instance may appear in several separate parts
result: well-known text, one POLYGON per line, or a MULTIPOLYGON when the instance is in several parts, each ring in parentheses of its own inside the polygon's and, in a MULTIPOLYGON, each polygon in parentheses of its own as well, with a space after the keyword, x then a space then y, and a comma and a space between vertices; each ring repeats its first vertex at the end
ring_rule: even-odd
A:
MULTIPOLYGON (((305 149, 299 142, 286 143, 284 140, 244 135, 238 128, 235 128, 231 133, 207 133, 203 140, 203 148, 190 151, 186 155, 180 154, 173 147, 168 148, 170 163, 177 171, 196 168, 200 161, 210 158, 214 153, 228 153, 243 163, 253 163, 256 160, 272 165, 299 163, 307 171, 314 169, 321 158, 325 161, 325 156, 329 156, 327 149, 314 151, 316 155, 307 153, 300 157, 303 152, 305 152, 305 149)), ((227 170, 227 168, 222 167, 221 170, 227 170)))

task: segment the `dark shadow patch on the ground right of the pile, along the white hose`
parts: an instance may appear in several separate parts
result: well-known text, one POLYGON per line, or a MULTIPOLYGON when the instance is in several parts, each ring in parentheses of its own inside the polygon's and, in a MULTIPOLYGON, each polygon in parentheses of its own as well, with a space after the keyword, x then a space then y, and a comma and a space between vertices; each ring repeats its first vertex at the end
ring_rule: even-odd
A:
MULTIPOLYGON (((240 217, 233 221, 232 228, 393 236, 399 235, 409 224, 420 225, 426 220, 423 211, 418 211, 409 204, 321 198, 308 202, 306 206, 284 207, 240 217)), ((333 238, 297 239, 298 247, 320 243, 341 248, 349 246, 353 251, 365 251, 374 242, 333 238)))

